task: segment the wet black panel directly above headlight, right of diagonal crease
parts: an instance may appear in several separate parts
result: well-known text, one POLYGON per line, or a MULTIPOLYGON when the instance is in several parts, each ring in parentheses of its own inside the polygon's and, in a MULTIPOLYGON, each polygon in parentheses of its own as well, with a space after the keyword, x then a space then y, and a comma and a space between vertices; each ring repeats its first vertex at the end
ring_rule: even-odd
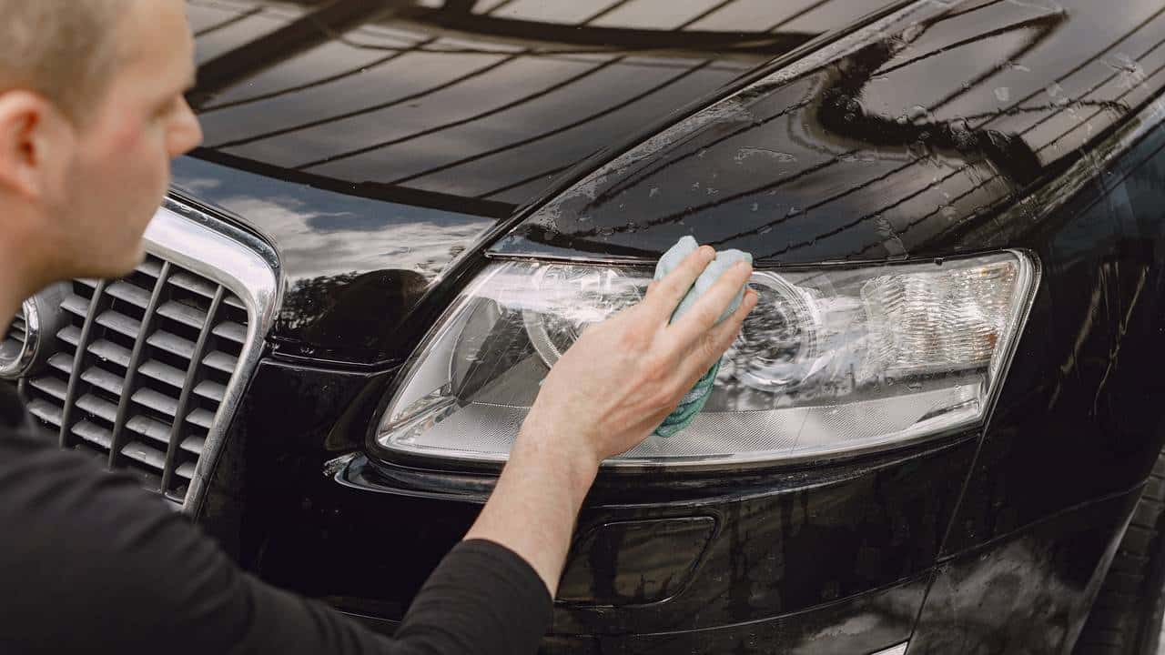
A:
POLYGON ((1163 29, 1155 0, 905 6, 598 168, 495 252, 642 260, 691 234, 782 266, 1033 247, 1050 205, 1033 193, 1103 184, 1097 146, 1159 120, 1163 29))

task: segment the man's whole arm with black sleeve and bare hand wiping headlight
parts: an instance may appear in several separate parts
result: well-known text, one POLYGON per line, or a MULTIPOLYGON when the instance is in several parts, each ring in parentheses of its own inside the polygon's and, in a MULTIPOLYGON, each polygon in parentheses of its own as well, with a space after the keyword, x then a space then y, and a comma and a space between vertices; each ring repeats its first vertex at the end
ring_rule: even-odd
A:
MULTIPOLYGON (((741 267, 669 325, 711 259, 693 254, 553 367, 490 500, 395 639, 240 571, 132 478, 0 411, 0 652, 532 653, 599 463, 650 434, 756 302, 714 325, 747 280, 741 267)), ((16 402, 0 388, 0 404, 16 402)))

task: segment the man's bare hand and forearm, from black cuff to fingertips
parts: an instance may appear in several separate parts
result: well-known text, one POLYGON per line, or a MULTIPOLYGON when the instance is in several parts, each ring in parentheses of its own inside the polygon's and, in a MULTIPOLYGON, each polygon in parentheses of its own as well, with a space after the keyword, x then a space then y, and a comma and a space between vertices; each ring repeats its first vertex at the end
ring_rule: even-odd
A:
POLYGON ((756 305, 749 290, 716 324, 751 274, 741 262, 669 324, 714 258, 708 246, 697 249, 652 282, 643 302, 582 332, 543 381, 489 502, 466 534, 516 552, 551 596, 599 463, 647 438, 723 355, 756 305))

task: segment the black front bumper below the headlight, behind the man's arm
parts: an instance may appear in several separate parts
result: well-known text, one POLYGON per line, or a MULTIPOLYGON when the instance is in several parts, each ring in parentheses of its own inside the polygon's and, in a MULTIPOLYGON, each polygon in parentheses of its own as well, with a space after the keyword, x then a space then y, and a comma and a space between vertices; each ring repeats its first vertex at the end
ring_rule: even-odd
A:
MULTIPOLYGON (((262 362, 199 516, 247 569, 384 632, 490 488, 353 455, 391 374, 262 362)), ((1139 487, 944 551, 980 437, 730 478, 600 476, 544 652, 1069 643, 1139 487), (1047 593, 1024 613, 1009 601, 1029 584, 1047 593)))

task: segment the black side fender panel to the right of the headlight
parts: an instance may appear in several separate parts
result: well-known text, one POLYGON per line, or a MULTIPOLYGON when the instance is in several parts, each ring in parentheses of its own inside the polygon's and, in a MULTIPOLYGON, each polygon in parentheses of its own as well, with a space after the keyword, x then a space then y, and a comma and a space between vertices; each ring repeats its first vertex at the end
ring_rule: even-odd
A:
POLYGON ((1132 487, 1165 423, 1165 131, 1032 226, 1043 289, 947 551, 1132 487), (1033 474, 1038 471, 1039 474, 1033 474))

